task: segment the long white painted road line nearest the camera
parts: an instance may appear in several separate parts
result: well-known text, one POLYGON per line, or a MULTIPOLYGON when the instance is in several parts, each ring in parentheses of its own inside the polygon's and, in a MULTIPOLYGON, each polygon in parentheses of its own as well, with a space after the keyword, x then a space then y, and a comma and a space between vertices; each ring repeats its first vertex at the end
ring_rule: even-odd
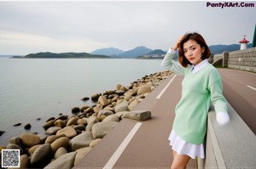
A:
POLYGON ((129 132, 129 134, 126 136, 122 144, 119 145, 119 148, 116 149, 116 151, 113 153, 113 155, 108 160, 107 164, 103 167, 103 169, 113 168, 114 164, 116 163, 116 161, 119 160, 120 155, 122 155, 125 148, 130 143, 131 139, 133 138, 133 136, 135 135, 139 127, 142 126, 142 124, 143 124, 142 122, 136 123, 136 125, 131 129, 131 132, 129 132))

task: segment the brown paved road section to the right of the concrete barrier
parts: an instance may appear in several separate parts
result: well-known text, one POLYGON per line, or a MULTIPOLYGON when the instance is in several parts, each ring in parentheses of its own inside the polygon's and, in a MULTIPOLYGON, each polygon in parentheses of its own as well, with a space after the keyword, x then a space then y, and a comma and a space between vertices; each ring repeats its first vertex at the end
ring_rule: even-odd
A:
POLYGON ((233 69, 218 70, 225 98, 256 134, 256 74, 233 69))

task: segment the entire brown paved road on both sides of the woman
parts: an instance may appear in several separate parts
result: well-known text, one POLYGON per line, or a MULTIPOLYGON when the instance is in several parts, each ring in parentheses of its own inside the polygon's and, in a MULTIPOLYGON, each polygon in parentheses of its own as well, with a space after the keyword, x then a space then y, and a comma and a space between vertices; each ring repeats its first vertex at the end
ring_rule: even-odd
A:
MULTIPOLYGON (((255 133, 256 75, 230 69, 219 72, 224 96, 255 133)), ((123 119, 74 168, 170 168, 172 149, 167 138, 181 97, 182 79, 172 74, 137 105, 136 110, 151 110, 151 120, 123 119)), ((195 160, 189 161, 188 168, 196 168, 195 160)))

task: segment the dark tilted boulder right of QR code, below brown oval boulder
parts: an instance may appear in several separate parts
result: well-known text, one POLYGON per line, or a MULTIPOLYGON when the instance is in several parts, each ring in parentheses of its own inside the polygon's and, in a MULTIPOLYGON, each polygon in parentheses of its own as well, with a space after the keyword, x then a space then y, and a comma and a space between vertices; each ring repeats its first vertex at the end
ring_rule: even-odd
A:
POLYGON ((32 154, 32 158, 30 161, 31 165, 36 165, 45 161, 49 161, 49 155, 50 155, 50 145, 49 144, 43 144, 38 149, 35 150, 35 152, 32 154))

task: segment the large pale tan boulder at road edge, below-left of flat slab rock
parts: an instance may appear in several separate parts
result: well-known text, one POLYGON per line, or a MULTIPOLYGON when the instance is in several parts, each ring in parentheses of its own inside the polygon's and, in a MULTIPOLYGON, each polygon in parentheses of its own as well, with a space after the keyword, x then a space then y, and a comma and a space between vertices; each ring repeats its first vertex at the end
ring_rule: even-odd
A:
POLYGON ((117 124, 118 124, 118 122, 114 122, 114 121, 103 121, 103 122, 96 123, 92 127, 92 136, 93 136, 93 138, 94 139, 103 138, 117 124))

